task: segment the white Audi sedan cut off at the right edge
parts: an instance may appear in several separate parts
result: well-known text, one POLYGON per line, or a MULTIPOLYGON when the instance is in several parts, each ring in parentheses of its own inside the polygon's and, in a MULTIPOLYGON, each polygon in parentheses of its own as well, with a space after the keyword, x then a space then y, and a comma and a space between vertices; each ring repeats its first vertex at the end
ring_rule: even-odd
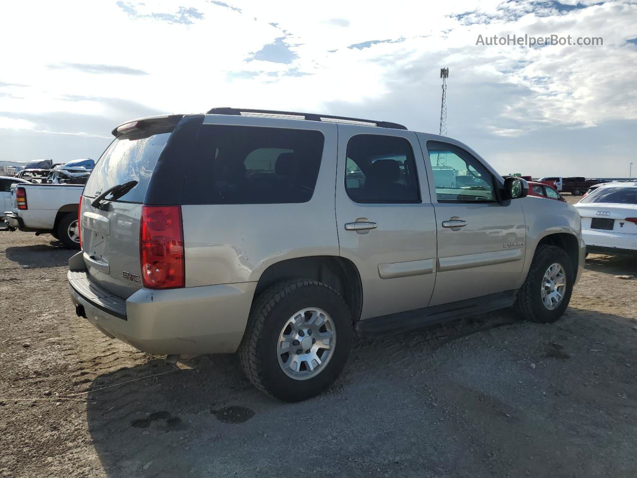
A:
POLYGON ((637 255, 637 182, 601 184, 575 207, 586 252, 637 255))

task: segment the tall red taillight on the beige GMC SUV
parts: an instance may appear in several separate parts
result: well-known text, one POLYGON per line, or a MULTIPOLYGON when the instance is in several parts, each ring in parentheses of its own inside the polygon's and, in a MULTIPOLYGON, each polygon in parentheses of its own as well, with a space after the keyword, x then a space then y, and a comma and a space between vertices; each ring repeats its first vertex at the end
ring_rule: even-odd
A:
POLYGON ((185 286, 180 206, 142 206, 140 257, 144 287, 171 289, 185 286))

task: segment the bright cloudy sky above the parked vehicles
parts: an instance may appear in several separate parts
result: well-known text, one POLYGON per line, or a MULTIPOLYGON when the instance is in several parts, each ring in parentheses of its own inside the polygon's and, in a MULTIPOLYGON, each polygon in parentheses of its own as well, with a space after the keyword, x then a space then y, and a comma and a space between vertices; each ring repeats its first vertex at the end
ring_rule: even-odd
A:
POLYGON ((501 173, 627 177, 634 1, 92 0, 0 6, 0 160, 99 157, 125 120, 241 106, 400 122, 501 173), (603 46, 482 38, 601 37, 603 46))

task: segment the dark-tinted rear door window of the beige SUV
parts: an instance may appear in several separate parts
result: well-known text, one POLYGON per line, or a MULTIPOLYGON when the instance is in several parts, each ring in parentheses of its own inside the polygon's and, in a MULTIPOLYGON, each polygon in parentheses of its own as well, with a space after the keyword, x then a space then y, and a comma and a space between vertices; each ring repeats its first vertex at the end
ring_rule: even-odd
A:
POLYGON ((420 203, 412 145, 404 138, 353 136, 345 168, 345 191, 357 203, 420 203))

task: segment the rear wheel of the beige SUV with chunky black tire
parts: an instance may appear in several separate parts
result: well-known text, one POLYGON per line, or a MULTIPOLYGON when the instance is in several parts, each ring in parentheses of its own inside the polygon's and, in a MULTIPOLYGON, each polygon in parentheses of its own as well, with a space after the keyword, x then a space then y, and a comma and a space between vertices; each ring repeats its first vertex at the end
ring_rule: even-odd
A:
POLYGON ((309 279, 278 282, 252 306, 241 366, 259 390, 299 402, 338 378, 353 335, 350 311, 334 289, 309 279))

